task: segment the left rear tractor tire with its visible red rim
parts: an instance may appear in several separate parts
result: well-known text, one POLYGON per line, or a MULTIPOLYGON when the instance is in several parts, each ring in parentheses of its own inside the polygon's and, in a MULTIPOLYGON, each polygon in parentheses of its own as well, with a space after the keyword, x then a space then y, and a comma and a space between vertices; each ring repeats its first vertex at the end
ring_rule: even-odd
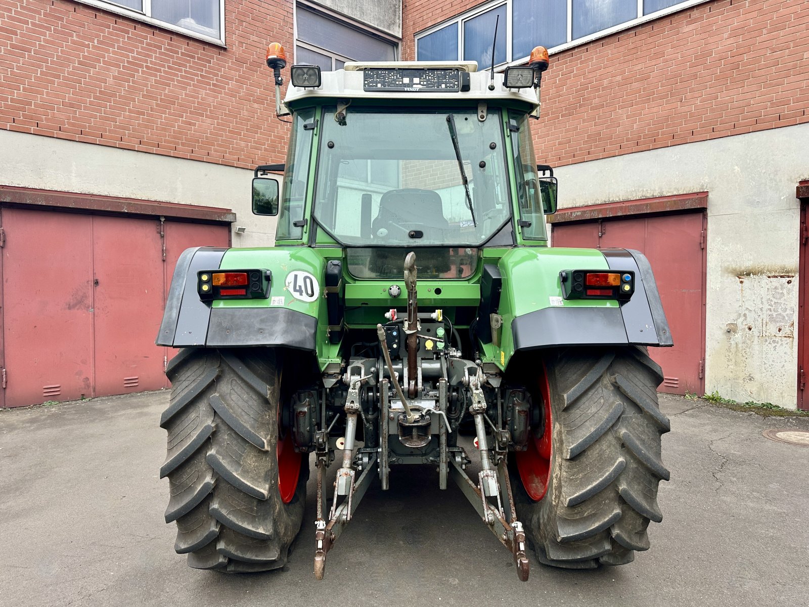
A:
POLYGON ((283 567, 303 519, 309 465, 279 433, 276 351, 188 348, 166 374, 160 478, 171 487, 165 518, 177 523, 175 550, 198 569, 283 567))

